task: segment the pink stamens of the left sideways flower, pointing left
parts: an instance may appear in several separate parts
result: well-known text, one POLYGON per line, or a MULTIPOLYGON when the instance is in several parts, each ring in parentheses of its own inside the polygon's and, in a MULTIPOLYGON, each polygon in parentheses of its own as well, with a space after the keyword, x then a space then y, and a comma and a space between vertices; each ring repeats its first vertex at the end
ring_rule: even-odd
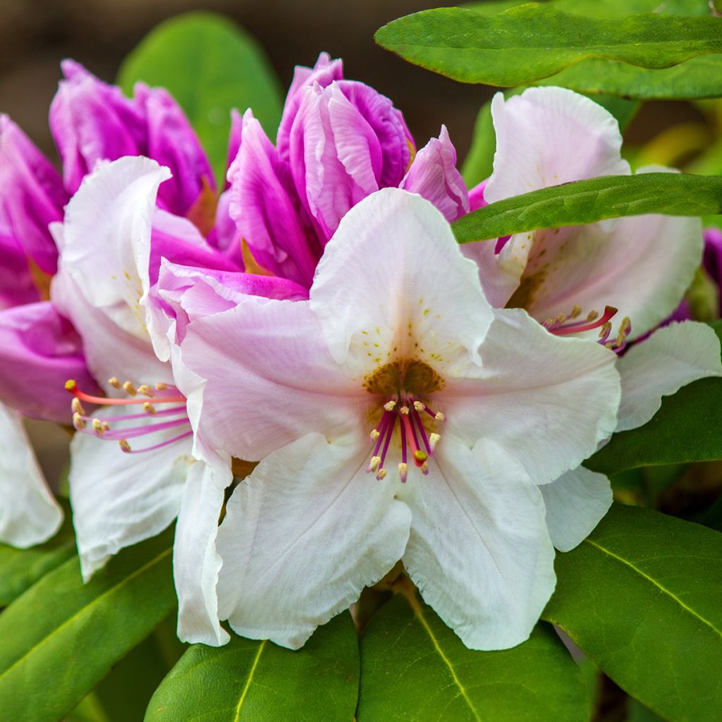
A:
POLYGON ((74 380, 66 382, 66 390, 73 395, 71 409, 73 412, 73 426, 77 431, 103 440, 117 441, 121 449, 126 453, 155 451, 193 435, 186 410, 186 397, 175 386, 156 383, 153 388, 146 384, 136 388, 130 381, 121 383, 115 377, 108 379, 108 383, 113 388, 125 391, 126 398, 108 399, 104 396, 91 396, 78 388, 74 380), (136 398, 139 395, 144 398, 136 398), (152 399, 152 402, 149 399, 152 399), (140 406, 142 412, 91 417, 85 412, 82 405, 83 401, 98 406, 140 406), (166 407, 165 404, 170 405, 166 407), (163 408, 159 410, 156 409, 156 406, 163 406, 163 408), (147 422, 149 418, 162 420, 153 424, 139 423, 141 419, 147 422), (180 433, 139 449, 131 448, 128 441, 129 439, 165 432, 169 429, 178 429, 180 433))

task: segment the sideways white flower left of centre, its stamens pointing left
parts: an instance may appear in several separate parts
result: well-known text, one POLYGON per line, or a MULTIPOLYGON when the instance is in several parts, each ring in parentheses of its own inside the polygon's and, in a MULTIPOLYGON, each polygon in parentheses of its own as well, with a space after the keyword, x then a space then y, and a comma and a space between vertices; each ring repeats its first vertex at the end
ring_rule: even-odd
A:
POLYGON ((70 497, 85 579, 119 549, 178 517, 178 632, 219 643, 225 632, 208 580, 217 574, 214 539, 232 475, 230 466, 214 471, 194 448, 202 440, 193 438, 193 409, 176 385, 166 335, 182 335, 197 312, 179 308, 176 318, 157 296, 157 279, 162 265, 173 263, 202 271, 208 284, 222 286, 223 299, 308 294, 286 279, 243 273, 188 219, 158 208, 157 193, 169 178, 167 168, 144 157, 101 164, 72 197, 64 222, 51 226, 60 248, 51 298, 82 337, 87 365, 107 394, 89 393, 75 380, 66 386, 73 396, 66 393, 66 414, 71 406, 77 429, 70 497))

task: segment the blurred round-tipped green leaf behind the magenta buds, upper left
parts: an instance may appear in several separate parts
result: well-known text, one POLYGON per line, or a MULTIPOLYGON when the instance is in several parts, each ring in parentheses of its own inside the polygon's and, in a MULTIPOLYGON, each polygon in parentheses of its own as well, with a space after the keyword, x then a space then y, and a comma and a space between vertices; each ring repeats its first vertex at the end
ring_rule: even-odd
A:
POLYGON ((256 40, 220 15, 192 12, 158 25, 121 66, 118 83, 126 93, 137 80, 175 96, 221 187, 231 108, 241 113, 252 108, 266 133, 275 136, 282 108, 278 79, 256 40))

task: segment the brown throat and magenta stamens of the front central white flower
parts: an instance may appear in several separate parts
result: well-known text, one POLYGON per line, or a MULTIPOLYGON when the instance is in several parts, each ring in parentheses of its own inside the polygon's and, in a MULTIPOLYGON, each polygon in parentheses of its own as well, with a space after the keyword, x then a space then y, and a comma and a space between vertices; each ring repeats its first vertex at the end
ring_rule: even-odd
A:
POLYGON ((409 472, 409 452, 414 465, 422 474, 429 473, 428 459, 434 456, 441 437, 433 431, 427 434, 422 414, 427 414, 437 422, 444 422, 445 417, 440 412, 432 411, 418 396, 427 396, 443 386, 440 375, 430 365, 416 359, 385 364, 367 376, 365 389, 386 399, 378 425, 370 433, 374 448, 366 468, 367 473, 375 471, 379 480, 386 477, 384 463, 396 431, 396 422, 401 439, 401 482, 406 483, 409 472))

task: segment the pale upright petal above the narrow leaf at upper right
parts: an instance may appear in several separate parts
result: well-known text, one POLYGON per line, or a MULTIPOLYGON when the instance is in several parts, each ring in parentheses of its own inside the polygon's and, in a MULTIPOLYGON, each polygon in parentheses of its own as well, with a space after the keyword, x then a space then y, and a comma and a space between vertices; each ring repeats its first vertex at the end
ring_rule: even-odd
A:
POLYGON ((492 99, 497 149, 488 203, 597 175, 628 175, 614 116, 588 97, 558 87, 492 99))

